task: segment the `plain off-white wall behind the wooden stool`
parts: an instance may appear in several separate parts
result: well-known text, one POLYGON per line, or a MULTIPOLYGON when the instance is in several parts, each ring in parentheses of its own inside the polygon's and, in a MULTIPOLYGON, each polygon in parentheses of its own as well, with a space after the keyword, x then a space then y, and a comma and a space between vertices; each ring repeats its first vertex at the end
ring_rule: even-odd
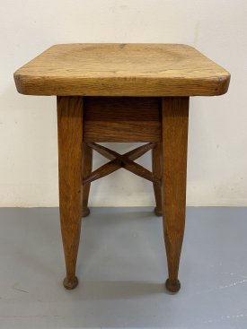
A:
MULTIPOLYGON (((190 101, 188 204, 247 205, 246 0, 0 0, 0 206, 57 205, 55 97, 23 96, 13 72, 52 44, 187 43, 232 74, 228 94, 190 101)), ((133 145, 132 145, 133 146, 133 145)), ((126 152, 128 144, 115 144, 126 152)), ((95 166, 101 157, 95 157, 95 166)), ((150 168, 150 155, 141 163, 150 168)), ((154 203, 119 170, 93 183, 93 205, 154 203)))

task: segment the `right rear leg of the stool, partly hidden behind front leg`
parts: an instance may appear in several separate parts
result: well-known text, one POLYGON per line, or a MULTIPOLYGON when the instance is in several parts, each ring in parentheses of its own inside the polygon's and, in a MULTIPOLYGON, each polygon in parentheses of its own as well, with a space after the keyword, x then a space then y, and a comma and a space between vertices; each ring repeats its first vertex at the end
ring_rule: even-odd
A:
MULTIPOLYGON (((152 169, 153 174, 156 177, 161 178, 162 176, 162 166, 161 166, 161 143, 156 143, 154 149, 152 150, 152 169)), ((159 184, 153 183, 154 186, 154 198, 156 206, 154 208, 154 213, 156 216, 162 216, 162 188, 159 184)))

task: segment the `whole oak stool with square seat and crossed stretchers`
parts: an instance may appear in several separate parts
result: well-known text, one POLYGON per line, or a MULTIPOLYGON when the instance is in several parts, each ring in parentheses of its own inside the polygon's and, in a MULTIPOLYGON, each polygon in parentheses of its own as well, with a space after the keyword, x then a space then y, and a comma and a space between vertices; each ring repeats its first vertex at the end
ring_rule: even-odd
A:
POLYGON ((66 289, 78 283, 75 265, 90 183, 124 168, 154 184, 155 213, 163 213, 166 288, 180 290, 189 97, 224 94, 230 74, 186 45, 65 44, 22 66, 14 80, 22 94, 57 95, 66 289), (146 144, 121 155, 98 144, 103 142, 146 144), (110 160, 93 172, 92 150, 110 160), (149 150, 153 172, 135 162, 149 150))

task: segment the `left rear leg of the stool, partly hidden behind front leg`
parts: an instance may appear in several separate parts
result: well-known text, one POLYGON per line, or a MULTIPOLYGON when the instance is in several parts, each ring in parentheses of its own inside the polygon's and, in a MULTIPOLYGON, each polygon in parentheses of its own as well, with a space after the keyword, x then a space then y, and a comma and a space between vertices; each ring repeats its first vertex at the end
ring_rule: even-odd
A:
MULTIPOLYGON (((93 150, 91 147, 84 143, 83 147, 83 167, 84 167, 84 177, 89 176, 92 173, 93 165, 93 150)), ((88 197, 90 192, 90 183, 86 183, 83 186, 83 207, 82 207, 82 216, 86 217, 89 215, 90 210, 88 208, 88 197)))

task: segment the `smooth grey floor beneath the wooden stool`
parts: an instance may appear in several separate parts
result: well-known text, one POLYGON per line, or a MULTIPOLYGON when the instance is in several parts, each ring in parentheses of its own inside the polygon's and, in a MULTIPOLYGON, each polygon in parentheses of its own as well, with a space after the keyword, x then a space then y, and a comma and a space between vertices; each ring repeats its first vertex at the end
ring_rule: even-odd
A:
POLYGON ((57 208, 2 208, 0 228, 0 328, 247 328, 247 208, 188 208, 176 295, 151 208, 92 209, 72 291, 57 208))

